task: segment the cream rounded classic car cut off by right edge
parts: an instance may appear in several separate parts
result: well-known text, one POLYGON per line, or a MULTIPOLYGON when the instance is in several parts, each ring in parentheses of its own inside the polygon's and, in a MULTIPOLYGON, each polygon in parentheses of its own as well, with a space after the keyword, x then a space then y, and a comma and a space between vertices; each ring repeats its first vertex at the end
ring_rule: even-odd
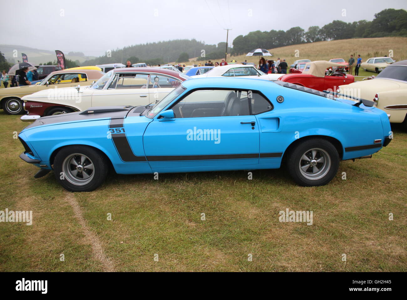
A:
POLYGON ((337 92, 373 100, 389 115, 390 122, 403 123, 407 130, 407 60, 390 64, 370 80, 341 85, 337 92))

